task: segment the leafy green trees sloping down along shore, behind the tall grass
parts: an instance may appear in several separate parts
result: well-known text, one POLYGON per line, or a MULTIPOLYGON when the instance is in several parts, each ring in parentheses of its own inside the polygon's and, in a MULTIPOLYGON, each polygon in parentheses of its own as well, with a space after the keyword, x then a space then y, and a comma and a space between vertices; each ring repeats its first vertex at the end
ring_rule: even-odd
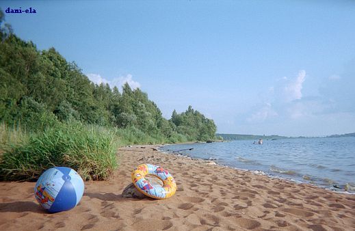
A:
POLYGON ((166 142, 215 139, 213 120, 191 106, 166 120, 140 89, 96 85, 54 48, 38 51, 4 24, 0 11, 0 122, 42 131, 56 122, 114 126, 166 142))

